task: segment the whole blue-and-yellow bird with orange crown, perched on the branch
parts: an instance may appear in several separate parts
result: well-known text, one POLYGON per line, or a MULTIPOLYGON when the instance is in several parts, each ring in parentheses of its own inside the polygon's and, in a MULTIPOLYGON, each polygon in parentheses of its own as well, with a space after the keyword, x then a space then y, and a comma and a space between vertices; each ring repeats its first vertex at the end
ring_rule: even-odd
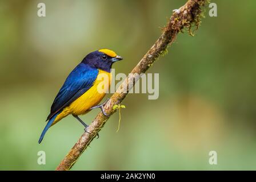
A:
POLYGON ((108 78, 108 80, 105 79, 107 88, 104 89, 109 89, 111 67, 113 63, 119 60, 122 60, 122 57, 110 49, 100 49, 85 56, 82 62, 67 76, 66 81, 55 97, 51 105, 50 114, 46 119, 48 121, 47 125, 43 129, 38 143, 42 142, 49 127, 69 114, 72 114, 85 126, 85 131, 88 125, 78 115, 86 114, 95 108, 101 108, 102 113, 106 115, 103 110, 105 103, 98 105, 106 94, 106 92, 98 92, 98 85, 102 82, 102 78, 99 78, 99 75, 101 73, 106 74, 108 78))

